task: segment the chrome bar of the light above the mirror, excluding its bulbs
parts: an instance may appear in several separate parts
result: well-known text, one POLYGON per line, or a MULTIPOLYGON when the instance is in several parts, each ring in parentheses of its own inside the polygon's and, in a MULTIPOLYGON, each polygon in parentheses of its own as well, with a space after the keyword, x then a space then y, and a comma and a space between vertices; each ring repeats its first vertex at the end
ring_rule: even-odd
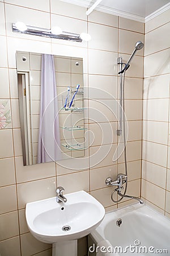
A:
POLYGON ((56 39, 69 40, 69 41, 80 42, 80 43, 82 42, 82 39, 80 38, 80 34, 74 34, 74 33, 63 31, 62 34, 55 35, 51 32, 51 30, 47 28, 27 26, 27 30, 21 31, 16 27, 15 23, 12 23, 12 31, 20 34, 44 36, 45 38, 56 38, 56 39))

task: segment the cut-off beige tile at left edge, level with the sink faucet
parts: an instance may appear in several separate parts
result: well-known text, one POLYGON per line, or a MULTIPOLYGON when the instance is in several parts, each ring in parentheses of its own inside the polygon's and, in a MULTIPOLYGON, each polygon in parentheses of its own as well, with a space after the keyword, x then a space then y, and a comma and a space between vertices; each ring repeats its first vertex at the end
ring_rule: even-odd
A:
POLYGON ((15 185, 0 188, 0 204, 0 214, 17 209, 15 185))

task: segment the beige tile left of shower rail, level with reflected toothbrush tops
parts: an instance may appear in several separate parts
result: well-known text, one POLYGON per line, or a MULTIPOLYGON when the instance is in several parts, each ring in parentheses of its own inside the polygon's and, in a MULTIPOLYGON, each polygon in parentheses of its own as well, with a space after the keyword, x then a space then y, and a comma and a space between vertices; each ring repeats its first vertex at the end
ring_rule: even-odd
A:
POLYGON ((88 76, 90 98, 117 98, 117 77, 116 76, 88 76))

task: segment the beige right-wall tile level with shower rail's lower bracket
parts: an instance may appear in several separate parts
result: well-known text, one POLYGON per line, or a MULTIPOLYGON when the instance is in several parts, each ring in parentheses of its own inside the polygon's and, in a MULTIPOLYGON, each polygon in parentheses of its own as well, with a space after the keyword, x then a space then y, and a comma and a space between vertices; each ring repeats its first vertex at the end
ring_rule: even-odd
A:
POLYGON ((168 144, 168 122, 143 121, 143 139, 168 144))

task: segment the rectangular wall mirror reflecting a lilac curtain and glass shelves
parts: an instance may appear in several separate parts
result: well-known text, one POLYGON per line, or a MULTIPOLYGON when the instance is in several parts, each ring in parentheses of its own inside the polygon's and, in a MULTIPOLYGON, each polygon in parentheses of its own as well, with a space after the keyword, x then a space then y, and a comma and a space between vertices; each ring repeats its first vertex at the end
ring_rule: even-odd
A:
POLYGON ((16 52, 24 166, 84 156, 83 59, 16 52))

